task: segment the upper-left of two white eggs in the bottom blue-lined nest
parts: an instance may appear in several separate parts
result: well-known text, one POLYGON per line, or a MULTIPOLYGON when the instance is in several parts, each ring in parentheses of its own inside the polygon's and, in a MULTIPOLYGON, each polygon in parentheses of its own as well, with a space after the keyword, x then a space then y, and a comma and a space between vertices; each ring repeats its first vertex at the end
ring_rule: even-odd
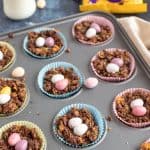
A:
POLYGON ((70 128, 74 128, 76 126, 79 126, 80 124, 82 124, 82 119, 79 117, 71 118, 68 122, 70 128))

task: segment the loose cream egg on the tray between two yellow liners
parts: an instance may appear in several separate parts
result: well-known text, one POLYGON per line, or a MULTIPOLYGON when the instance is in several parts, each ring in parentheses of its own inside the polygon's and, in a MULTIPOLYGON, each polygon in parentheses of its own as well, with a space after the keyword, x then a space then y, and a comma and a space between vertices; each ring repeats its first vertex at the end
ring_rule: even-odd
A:
POLYGON ((20 77, 23 77, 24 75, 25 75, 25 70, 23 67, 16 67, 12 71, 12 76, 15 78, 20 78, 20 77))

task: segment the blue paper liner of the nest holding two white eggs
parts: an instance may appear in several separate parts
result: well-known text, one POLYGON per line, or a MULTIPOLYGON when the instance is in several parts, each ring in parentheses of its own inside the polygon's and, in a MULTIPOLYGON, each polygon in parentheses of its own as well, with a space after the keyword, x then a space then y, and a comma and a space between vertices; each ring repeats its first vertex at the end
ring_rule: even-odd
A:
POLYGON ((97 108, 95 108, 94 106, 88 105, 88 104, 83 104, 83 103, 71 104, 71 105, 68 105, 68 106, 65 106, 64 108, 62 108, 58 112, 58 114, 55 116, 55 118, 53 120, 53 133, 58 141, 64 143, 67 146, 70 146, 73 148, 94 148, 95 146, 100 144, 105 139, 105 136, 107 134, 107 123, 106 123, 105 119, 103 118, 103 116, 101 115, 101 113, 99 112, 99 110, 97 108), (93 115, 95 122, 97 123, 97 125, 99 127, 99 135, 98 135, 98 138, 94 142, 92 142, 90 144, 85 144, 82 146, 81 145, 73 145, 73 144, 67 142, 63 137, 58 135, 57 126, 56 126, 57 119, 60 116, 63 116, 67 112, 69 112, 71 110, 71 108, 73 108, 73 107, 76 107, 78 109, 86 108, 93 115))

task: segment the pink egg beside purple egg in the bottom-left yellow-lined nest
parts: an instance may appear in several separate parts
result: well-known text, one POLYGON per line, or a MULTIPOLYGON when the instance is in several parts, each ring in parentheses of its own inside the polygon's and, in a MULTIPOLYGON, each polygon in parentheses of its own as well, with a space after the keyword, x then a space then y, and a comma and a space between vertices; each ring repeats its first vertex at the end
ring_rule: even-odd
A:
POLYGON ((8 138, 8 144, 10 146, 15 146, 21 140, 18 133, 12 133, 8 138))

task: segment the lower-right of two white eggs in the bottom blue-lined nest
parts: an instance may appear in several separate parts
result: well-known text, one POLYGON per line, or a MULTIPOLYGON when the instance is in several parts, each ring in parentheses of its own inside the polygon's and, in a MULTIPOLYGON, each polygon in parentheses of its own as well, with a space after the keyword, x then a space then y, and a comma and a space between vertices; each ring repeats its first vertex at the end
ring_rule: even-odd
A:
POLYGON ((86 133, 87 130, 88 126, 86 124, 80 124, 79 126, 73 128, 73 133, 77 136, 82 136, 86 133))

